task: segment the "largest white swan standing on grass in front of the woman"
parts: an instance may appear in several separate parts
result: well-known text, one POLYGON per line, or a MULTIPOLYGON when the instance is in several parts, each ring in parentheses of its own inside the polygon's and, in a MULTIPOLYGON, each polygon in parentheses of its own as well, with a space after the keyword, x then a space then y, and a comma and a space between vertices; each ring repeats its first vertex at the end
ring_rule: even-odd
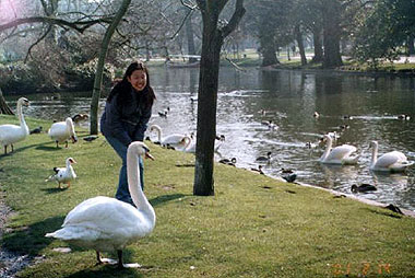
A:
MULTIPOLYGON (((96 251, 98 264, 103 263, 99 252, 117 251, 118 267, 122 264, 122 248, 149 235, 155 225, 156 216, 140 184, 138 158, 150 157, 143 142, 132 142, 127 151, 127 176, 131 198, 137 208, 115 198, 98 196, 84 200, 72 209, 62 229, 47 233, 75 245, 96 251)), ((139 265, 134 265, 138 267, 139 265)))

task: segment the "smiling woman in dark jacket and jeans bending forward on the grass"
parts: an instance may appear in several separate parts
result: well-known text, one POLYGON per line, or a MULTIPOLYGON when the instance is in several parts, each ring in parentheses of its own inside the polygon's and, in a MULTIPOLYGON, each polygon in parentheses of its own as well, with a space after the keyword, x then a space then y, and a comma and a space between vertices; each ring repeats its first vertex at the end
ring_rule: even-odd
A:
MULTIPOLYGON (((116 198, 133 204, 127 182, 127 149, 132 141, 143 141, 155 100, 147 68, 132 62, 122 80, 108 95, 100 118, 100 131, 122 160, 116 198)), ((140 160, 141 186, 144 188, 143 161, 140 160)))

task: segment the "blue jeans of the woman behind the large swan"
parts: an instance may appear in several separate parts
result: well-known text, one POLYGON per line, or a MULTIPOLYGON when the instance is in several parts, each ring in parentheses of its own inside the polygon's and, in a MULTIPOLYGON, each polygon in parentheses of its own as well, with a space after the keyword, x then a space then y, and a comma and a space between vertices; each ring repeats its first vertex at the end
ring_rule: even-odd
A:
MULTIPOLYGON (((134 206, 134 204, 131 199, 130 190, 128 189, 128 179, 127 179, 127 149, 128 149, 128 146, 124 146, 115 137, 106 136, 105 139, 107 139, 108 143, 112 147, 112 149, 117 152, 117 154, 122 160, 122 166, 120 169, 116 198, 119 200, 129 202, 129 204, 134 206)), ((144 166, 143 166, 143 159, 141 157, 139 160, 139 167, 140 167, 141 188, 144 190, 144 166)))

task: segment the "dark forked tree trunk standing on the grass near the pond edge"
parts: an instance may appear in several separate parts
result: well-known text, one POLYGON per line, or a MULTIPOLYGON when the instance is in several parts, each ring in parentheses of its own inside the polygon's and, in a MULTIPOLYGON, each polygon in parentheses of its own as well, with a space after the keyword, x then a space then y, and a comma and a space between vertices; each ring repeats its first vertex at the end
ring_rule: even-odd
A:
POLYGON ((229 23, 220 28, 218 16, 228 0, 198 0, 203 19, 202 55, 198 92, 198 129, 193 194, 214 195, 213 154, 216 136, 217 83, 224 38, 244 16, 244 0, 237 0, 229 23))

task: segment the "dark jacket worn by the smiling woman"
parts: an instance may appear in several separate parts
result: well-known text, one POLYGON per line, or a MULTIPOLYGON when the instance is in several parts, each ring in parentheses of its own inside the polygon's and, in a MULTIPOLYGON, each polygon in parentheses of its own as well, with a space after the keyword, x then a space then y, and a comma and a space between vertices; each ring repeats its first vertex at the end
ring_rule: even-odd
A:
POLYGON ((152 107, 143 99, 147 91, 137 92, 128 83, 118 83, 114 97, 105 104, 100 118, 100 131, 104 136, 115 137, 129 146, 132 141, 143 141, 144 132, 152 115, 152 107))

